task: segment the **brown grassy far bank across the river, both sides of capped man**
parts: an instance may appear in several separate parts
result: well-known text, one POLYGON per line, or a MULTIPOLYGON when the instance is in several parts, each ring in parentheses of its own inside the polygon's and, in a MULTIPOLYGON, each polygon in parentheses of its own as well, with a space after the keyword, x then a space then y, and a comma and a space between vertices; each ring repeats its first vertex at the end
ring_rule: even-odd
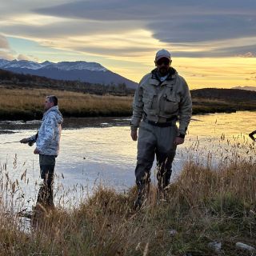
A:
MULTIPOLYGON (((13 88, 1 85, 0 120, 41 119, 42 101, 46 95, 56 94, 64 117, 121 117, 131 116, 133 95, 97 95, 67 90, 13 88)), ((204 89, 209 94, 210 89, 204 89)), ((210 95, 192 90, 193 114, 232 113, 238 110, 256 110, 254 98, 232 98, 224 89, 215 89, 210 95), (216 94, 218 92, 218 94, 216 94), (205 96, 204 96, 205 95, 205 96), (215 96, 214 96, 215 95, 215 96), (223 97, 224 95, 224 97, 223 97)), ((238 90, 239 92, 239 90, 238 90)), ((241 92, 241 90, 240 90, 241 92)), ((236 92, 237 93, 237 92, 236 92)), ((250 95, 250 92, 246 92, 250 95)), ((255 93, 256 95, 256 93, 255 93)))

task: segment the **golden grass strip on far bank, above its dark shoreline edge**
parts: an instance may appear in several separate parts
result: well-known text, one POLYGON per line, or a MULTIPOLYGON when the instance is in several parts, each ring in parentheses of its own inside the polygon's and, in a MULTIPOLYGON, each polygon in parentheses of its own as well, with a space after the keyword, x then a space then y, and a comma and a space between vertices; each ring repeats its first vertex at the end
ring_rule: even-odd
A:
POLYGON ((42 109, 46 95, 56 95, 61 110, 118 110, 130 109, 131 97, 118 97, 111 95, 98 96, 61 90, 31 89, 9 90, 2 88, 0 108, 11 109, 42 109))

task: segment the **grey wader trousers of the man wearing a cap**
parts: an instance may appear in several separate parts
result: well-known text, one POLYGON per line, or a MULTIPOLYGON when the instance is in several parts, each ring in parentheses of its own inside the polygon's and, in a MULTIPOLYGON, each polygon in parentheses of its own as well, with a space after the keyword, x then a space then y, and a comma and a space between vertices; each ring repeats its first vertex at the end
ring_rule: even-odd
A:
POLYGON ((164 188, 169 184, 172 162, 176 152, 174 139, 177 132, 178 128, 175 124, 158 127, 141 122, 138 131, 138 156, 135 169, 138 186, 143 186, 150 181, 150 169, 154 162, 154 155, 157 158, 159 188, 164 188))

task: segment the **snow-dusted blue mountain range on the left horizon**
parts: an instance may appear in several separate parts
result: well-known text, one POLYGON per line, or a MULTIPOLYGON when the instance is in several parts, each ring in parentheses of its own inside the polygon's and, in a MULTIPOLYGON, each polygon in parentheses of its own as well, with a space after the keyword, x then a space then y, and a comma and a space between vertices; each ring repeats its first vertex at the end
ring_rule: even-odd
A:
POLYGON ((97 84, 122 84, 128 88, 135 89, 138 84, 130 79, 124 78, 97 62, 32 62, 26 60, 0 59, 0 69, 10 70, 19 74, 34 74, 46 78, 58 80, 78 80, 97 84))

